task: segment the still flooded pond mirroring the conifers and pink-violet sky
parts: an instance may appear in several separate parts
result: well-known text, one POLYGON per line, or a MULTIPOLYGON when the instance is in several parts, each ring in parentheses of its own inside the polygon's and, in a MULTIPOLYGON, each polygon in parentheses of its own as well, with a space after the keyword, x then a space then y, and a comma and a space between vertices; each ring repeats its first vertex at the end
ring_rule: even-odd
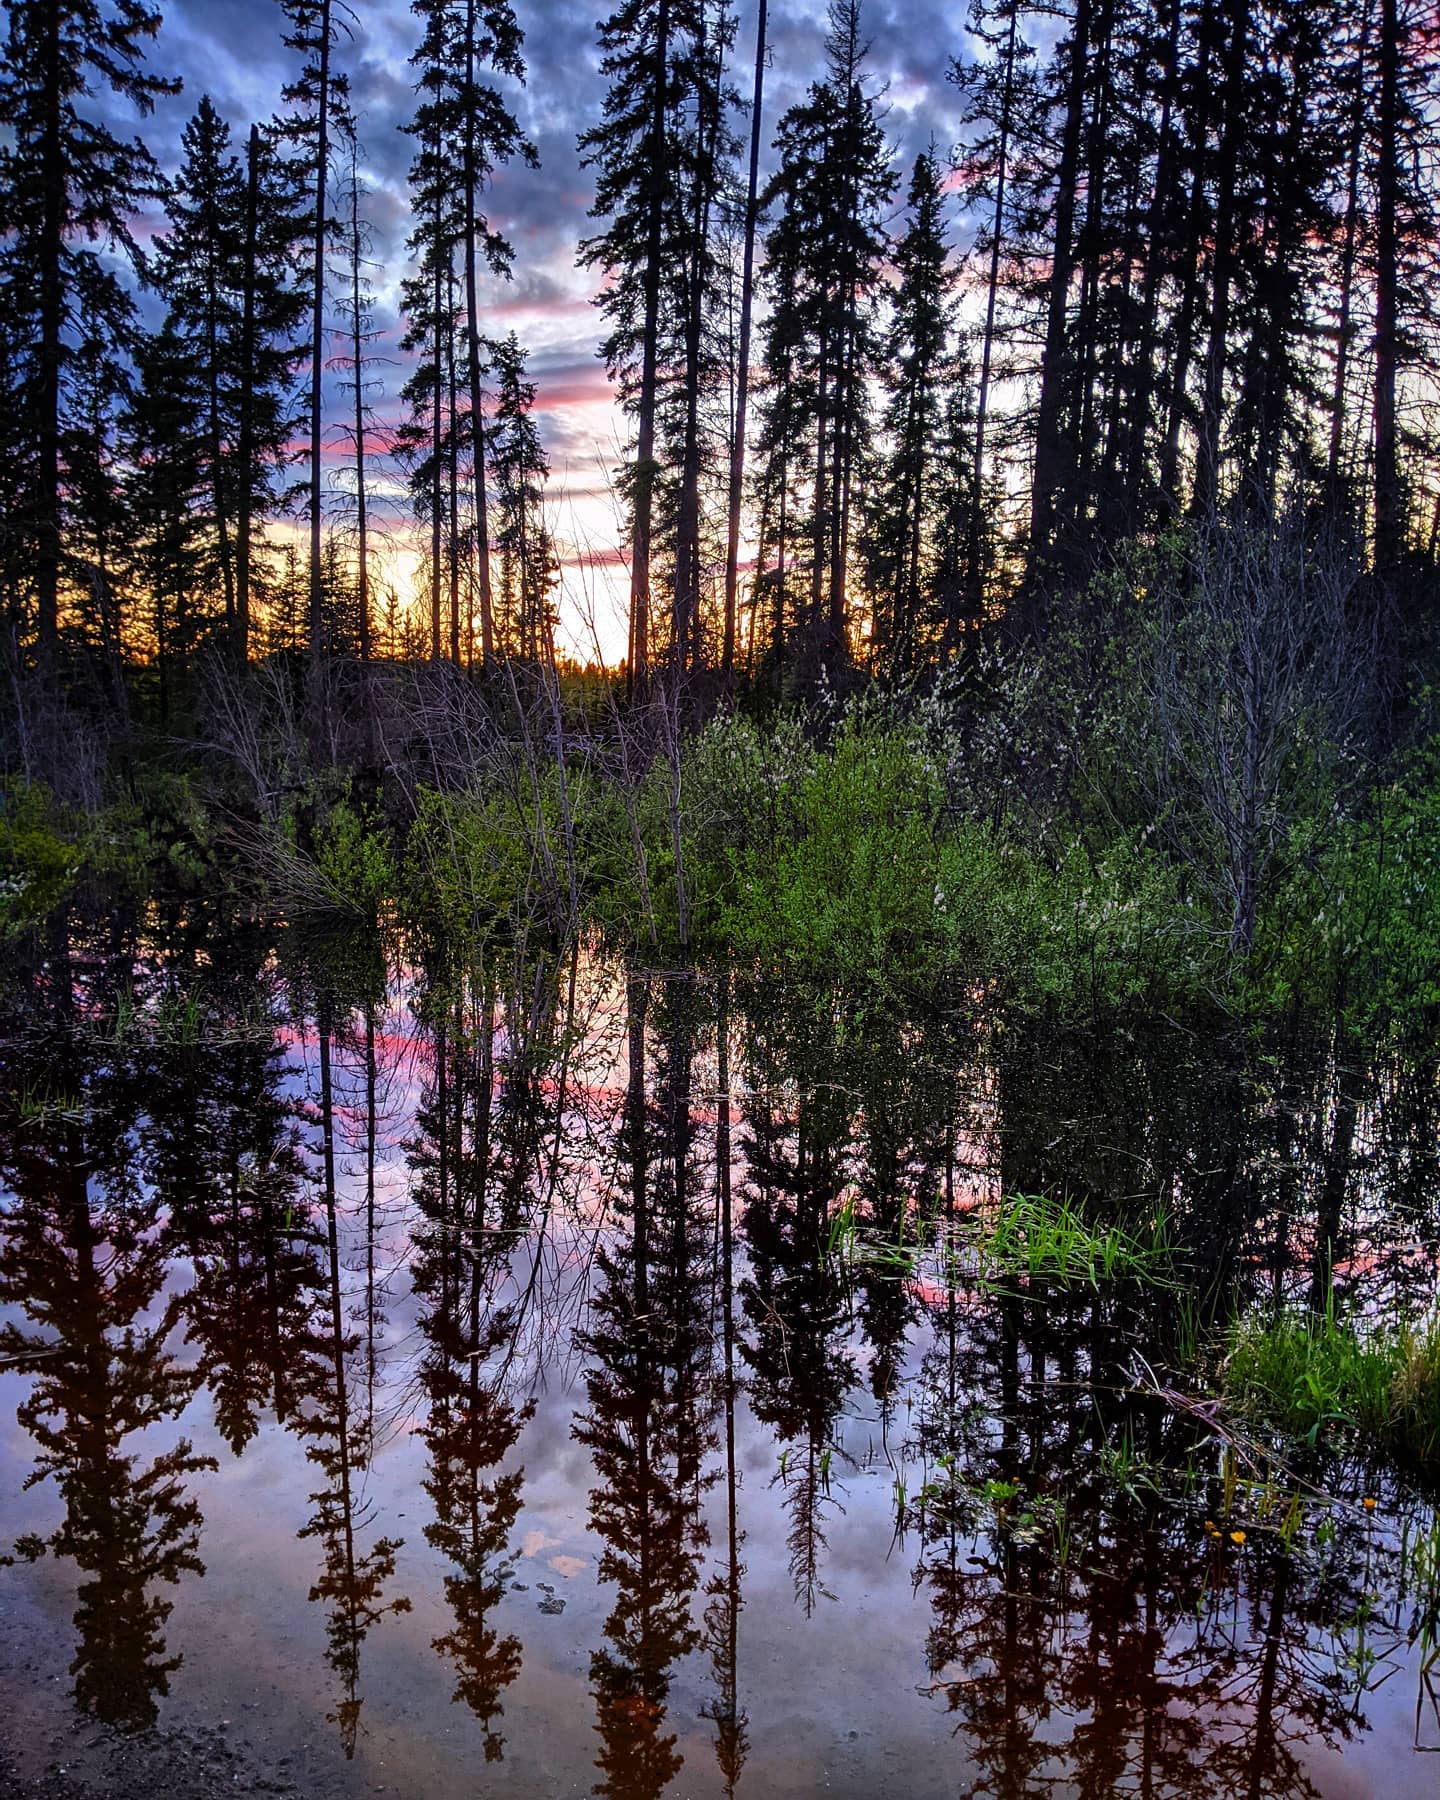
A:
POLYGON ((1435 1060, 117 936, 0 1021, 22 1775, 184 1726, 304 1795, 1440 1791, 1433 1498, 1197 1352, 1433 1294, 1435 1060), (1013 1195, 1165 1269, 1006 1273, 1013 1195))

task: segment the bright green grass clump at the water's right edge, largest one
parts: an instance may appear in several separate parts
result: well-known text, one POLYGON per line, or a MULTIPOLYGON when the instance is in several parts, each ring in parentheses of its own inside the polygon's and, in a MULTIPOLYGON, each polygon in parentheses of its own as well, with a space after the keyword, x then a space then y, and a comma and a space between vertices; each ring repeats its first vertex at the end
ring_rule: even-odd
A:
POLYGON ((1440 1318, 1384 1330, 1334 1307, 1249 1316, 1222 1386, 1237 1411, 1307 1444, 1341 1433, 1417 1463, 1440 1458, 1440 1318))

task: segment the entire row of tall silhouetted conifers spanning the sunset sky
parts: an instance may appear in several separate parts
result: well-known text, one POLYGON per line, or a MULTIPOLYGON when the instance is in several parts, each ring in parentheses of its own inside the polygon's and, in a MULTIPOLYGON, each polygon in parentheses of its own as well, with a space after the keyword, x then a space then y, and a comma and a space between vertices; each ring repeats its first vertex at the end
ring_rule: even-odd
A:
MULTIPOLYGON (((281 113, 236 128, 202 97, 162 175, 94 104, 110 88, 144 117, 175 92, 146 61, 160 14, 9 7, 0 608, 18 675, 88 662, 119 691, 146 670, 166 718, 211 652, 553 661, 536 392, 484 304, 515 265, 488 185, 536 164, 513 106, 522 22, 502 0, 410 11, 409 364, 403 419, 380 430, 355 11, 279 0, 281 113), (382 463, 409 493, 412 599, 378 542, 382 463)), ((1103 637, 1118 544, 1283 515, 1352 560, 1393 711, 1440 545, 1422 9, 974 0, 949 47, 961 140, 909 171, 859 0, 833 0, 824 67, 778 121, 765 0, 752 20, 625 0, 598 31, 578 257, 630 428, 632 680, 803 693, 974 659, 994 632, 1044 643, 1076 607, 1103 637)))

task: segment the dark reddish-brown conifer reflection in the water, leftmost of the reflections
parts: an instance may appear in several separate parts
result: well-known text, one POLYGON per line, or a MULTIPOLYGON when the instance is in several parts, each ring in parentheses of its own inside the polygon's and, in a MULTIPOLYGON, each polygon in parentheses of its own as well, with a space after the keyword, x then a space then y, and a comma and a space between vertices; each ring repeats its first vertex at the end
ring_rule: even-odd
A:
MULTIPOLYGON (((25 1021, 23 1087, 0 1111, 0 1172, 16 1197, 0 1213, 0 1301, 25 1321, 0 1328, 0 1355, 31 1375, 18 1411, 36 1445, 25 1483, 54 1481, 63 1505, 49 1535, 16 1548, 74 1561, 76 1703, 140 1728, 182 1661, 166 1645, 169 1589, 203 1575, 187 1478, 214 1462, 187 1438, 158 1453, 139 1442, 200 1384, 171 1350, 184 1298, 162 1292, 162 1195, 137 1156, 146 1067, 164 1055, 157 1042, 155 1055, 101 1060, 74 981, 70 947, 56 943, 43 1004, 25 1021)), ((160 1024, 176 1024, 169 1010, 160 1024)))

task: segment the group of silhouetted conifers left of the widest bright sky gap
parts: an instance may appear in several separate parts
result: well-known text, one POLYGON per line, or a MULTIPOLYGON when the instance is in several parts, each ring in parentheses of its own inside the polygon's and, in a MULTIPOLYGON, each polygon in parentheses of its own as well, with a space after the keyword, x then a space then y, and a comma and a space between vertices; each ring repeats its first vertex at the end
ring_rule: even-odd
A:
POLYGON ((108 86, 144 115, 176 92, 146 68, 158 11, 9 9, 0 605, 18 664, 54 671, 61 648, 112 675, 146 664, 164 720, 205 650, 490 661, 549 641, 535 383, 477 304, 479 272, 511 261, 481 196, 499 162, 535 160, 488 79, 524 74, 520 29, 506 5, 412 11, 410 360, 385 430, 353 9, 283 0, 283 112, 236 133, 203 95, 173 175, 86 106, 108 86), (153 243, 146 207, 162 211, 153 243), (380 578, 380 464, 423 531, 428 617, 380 578))

